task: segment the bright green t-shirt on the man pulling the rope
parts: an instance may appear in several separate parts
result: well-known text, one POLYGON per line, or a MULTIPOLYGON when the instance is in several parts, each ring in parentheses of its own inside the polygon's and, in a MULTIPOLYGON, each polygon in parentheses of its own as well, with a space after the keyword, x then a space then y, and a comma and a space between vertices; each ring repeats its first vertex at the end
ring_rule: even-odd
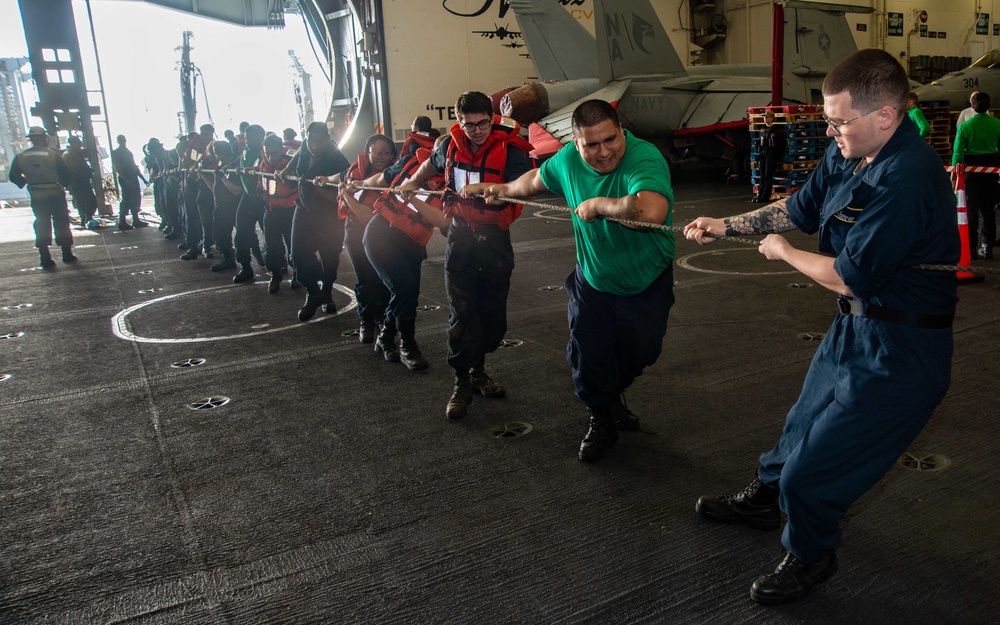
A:
MULTIPOLYGON (((651 143, 625 131, 625 156, 618 167, 600 174, 587 165, 576 146, 564 146, 542 164, 542 183, 566 197, 570 208, 594 197, 620 198, 639 191, 654 191, 667 198, 673 223, 674 192, 670 170, 651 143)), ((674 258, 674 233, 670 230, 635 230, 607 219, 587 223, 573 215, 576 262, 587 282, 598 291, 635 295, 652 284, 674 258)))

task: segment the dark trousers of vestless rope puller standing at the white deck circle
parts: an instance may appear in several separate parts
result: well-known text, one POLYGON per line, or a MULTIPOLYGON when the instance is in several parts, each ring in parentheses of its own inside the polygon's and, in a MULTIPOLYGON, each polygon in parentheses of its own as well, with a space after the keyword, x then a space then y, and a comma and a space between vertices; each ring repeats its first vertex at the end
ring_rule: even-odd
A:
POLYGON ((340 250, 344 248, 344 220, 336 206, 308 209, 295 206, 292 217, 292 266, 311 295, 329 293, 337 280, 340 250), (318 258, 317 258, 318 255, 318 258))

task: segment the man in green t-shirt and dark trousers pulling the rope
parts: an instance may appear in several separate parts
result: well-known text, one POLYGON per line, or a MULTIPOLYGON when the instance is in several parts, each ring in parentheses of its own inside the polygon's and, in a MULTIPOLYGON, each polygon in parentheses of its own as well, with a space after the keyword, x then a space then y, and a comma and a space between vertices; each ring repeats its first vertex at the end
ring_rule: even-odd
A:
POLYGON ((588 100, 573 111, 573 144, 513 182, 468 185, 463 195, 560 193, 574 209, 577 266, 566 279, 566 360, 590 412, 580 460, 593 462, 639 421, 622 393, 660 355, 674 303, 674 235, 611 219, 670 225, 673 190, 659 150, 621 127, 615 109, 588 100))

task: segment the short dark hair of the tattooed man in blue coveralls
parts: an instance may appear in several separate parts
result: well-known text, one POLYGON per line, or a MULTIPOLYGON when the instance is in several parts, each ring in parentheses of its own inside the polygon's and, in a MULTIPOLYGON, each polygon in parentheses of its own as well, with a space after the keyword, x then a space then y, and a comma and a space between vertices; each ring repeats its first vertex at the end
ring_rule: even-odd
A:
POLYGON ((906 70, 884 50, 858 50, 840 60, 823 80, 823 95, 851 95, 851 106, 871 112, 883 106, 896 109, 896 116, 906 114, 910 81, 906 70))

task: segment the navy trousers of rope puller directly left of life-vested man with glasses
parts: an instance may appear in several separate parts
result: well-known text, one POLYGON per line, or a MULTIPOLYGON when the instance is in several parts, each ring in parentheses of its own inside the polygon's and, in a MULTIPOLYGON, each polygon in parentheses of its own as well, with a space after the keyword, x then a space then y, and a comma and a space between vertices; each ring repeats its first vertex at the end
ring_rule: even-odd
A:
POLYGON ((364 246, 383 288, 390 293, 385 325, 399 330, 404 340, 412 340, 420 297, 420 265, 427 258, 427 248, 390 226, 381 215, 368 222, 364 246))

